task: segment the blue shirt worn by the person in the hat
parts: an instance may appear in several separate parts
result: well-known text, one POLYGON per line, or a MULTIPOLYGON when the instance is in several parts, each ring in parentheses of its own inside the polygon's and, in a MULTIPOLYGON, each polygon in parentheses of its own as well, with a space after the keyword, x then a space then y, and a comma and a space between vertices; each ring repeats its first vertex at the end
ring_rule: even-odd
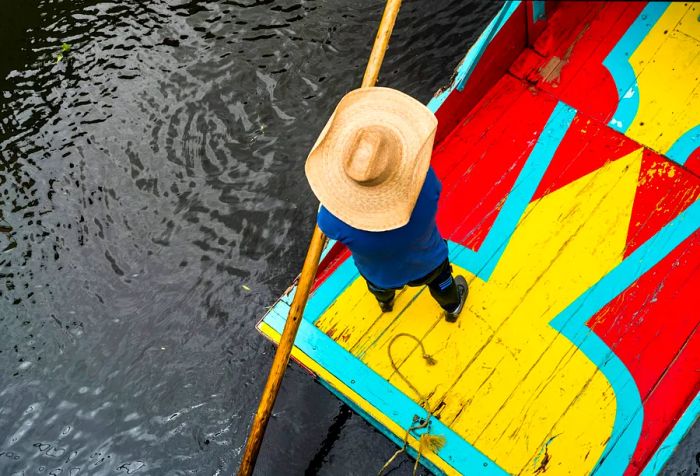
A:
POLYGON ((447 259, 447 244, 435 224, 442 184, 432 167, 409 222, 389 231, 353 228, 321 207, 318 226, 329 238, 347 246, 360 273, 375 286, 401 288, 427 276, 447 259))

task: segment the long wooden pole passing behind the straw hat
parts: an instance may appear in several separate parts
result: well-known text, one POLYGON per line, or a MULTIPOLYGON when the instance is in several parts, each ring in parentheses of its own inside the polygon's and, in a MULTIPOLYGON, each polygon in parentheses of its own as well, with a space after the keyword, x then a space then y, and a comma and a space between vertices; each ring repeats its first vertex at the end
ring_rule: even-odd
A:
MULTIPOLYGON (((400 6, 401 0, 387 0, 386 2, 382 21, 379 24, 379 31, 377 32, 377 37, 372 47, 372 53, 367 62, 367 69, 365 69, 365 75, 362 78, 363 88, 372 87, 377 82, 379 69, 382 66, 382 60, 384 60, 384 53, 389 43, 391 31, 394 29, 394 22, 396 21, 396 15, 399 13, 400 6)), ((316 225, 314 227, 313 236, 311 237, 309 249, 306 252, 304 266, 301 268, 296 294, 294 295, 292 306, 289 308, 289 315, 287 316, 287 322, 282 331, 280 344, 279 347, 277 347, 275 358, 272 360, 272 368, 270 369, 265 389, 260 398, 258 411, 255 413, 253 426, 250 428, 248 443, 245 447, 241 467, 238 469, 238 476, 249 476, 253 473, 255 461, 260 451, 260 445, 265 435, 265 428, 267 427, 267 422, 270 420, 272 407, 277 399, 277 394, 282 385, 282 377, 284 377, 284 371, 289 363, 289 356, 292 353, 294 338, 297 335, 299 324, 301 323, 301 316, 304 313, 306 301, 309 299, 309 291, 316 277, 316 270, 318 269, 318 262, 321 258, 321 251, 323 250, 325 241, 323 233, 318 228, 318 225, 316 225)))

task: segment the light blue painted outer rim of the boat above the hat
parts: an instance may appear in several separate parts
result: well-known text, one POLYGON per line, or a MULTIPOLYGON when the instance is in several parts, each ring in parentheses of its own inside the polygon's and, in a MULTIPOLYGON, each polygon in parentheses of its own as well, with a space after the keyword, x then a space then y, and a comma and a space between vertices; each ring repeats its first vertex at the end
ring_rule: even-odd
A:
POLYGON ((445 99, 447 99, 447 97, 452 93, 452 91, 455 89, 462 91, 464 89, 464 85, 474 71, 474 68, 481 59, 481 56, 484 54, 484 51, 486 51, 486 48, 491 43, 491 40, 493 40, 499 31, 501 31, 503 25, 505 25, 510 19, 520 3, 520 0, 508 0, 504 3, 501 10, 498 12, 498 15, 491 20, 486 29, 481 33, 481 35, 479 35, 476 42, 471 48, 469 48, 469 51, 467 51, 466 56, 457 67, 457 72, 452 80, 452 83, 447 87, 447 89, 440 92, 430 100, 428 103, 428 109, 436 112, 440 106, 442 106, 442 103, 445 102, 445 99))

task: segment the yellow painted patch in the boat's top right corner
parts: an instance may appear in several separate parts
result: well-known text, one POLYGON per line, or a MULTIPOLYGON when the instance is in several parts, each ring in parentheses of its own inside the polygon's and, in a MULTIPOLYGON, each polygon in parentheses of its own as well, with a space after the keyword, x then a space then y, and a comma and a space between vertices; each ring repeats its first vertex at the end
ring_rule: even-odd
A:
POLYGON ((639 109, 626 135, 662 153, 700 124, 698 14, 693 3, 671 3, 630 57, 639 109))

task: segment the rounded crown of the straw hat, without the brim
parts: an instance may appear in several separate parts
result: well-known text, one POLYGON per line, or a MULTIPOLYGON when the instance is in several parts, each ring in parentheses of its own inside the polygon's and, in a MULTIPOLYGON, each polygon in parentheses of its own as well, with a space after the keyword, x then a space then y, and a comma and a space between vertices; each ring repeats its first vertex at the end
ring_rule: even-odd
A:
POLYGON ((391 129, 368 126, 355 133, 343 167, 357 184, 373 186, 392 175, 400 156, 401 142, 391 129))

